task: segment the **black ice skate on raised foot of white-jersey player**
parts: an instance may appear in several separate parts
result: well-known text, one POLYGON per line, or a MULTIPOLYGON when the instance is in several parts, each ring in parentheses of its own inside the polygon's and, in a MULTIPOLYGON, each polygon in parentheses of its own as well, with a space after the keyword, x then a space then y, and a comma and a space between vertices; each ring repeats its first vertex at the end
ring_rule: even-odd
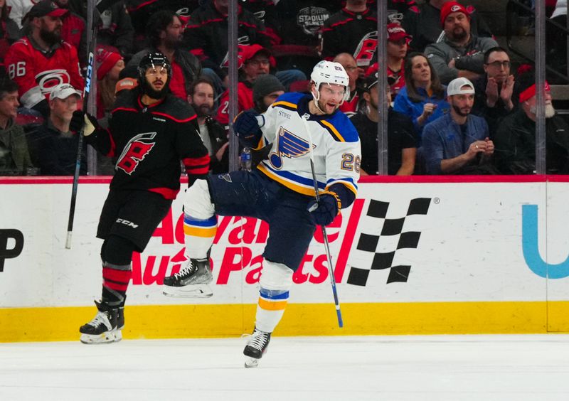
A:
POLYGON ((162 292, 168 296, 208 298, 213 295, 208 285, 212 281, 209 258, 190 259, 184 262, 179 273, 164 278, 162 292))

